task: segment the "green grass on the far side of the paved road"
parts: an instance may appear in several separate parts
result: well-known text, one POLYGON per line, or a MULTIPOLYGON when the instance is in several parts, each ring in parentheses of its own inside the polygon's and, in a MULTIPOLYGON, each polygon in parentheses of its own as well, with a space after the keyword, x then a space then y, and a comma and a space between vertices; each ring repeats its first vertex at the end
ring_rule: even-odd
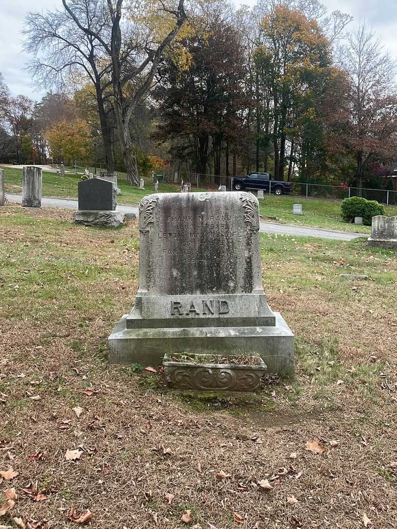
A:
MULTIPOLYGON (((6 191, 9 193, 22 193, 22 169, 5 167, 4 172, 6 191)), ((77 183, 79 180, 79 175, 61 177, 52 172, 43 172, 43 196, 77 198, 77 183)), ((120 204, 138 205, 142 197, 154 193, 150 178, 146 179, 145 190, 131 187, 124 178, 118 179, 118 185, 121 189, 121 195, 118 197, 120 204)), ((206 189, 192 187, 192 191, 204 190, 206 189)), ((175 191, 179 191, 179 185, 160 183, 160 193, 173 193, 175 191)), ((397 206, 389 206, 385 207, 385 209, 386 215, 397 215, 397 206)), ((371 233, 370 226, 359 226, 342 221, 340 202, 331 200, 265 195, 265 199, 259 201, 259 212, 263 215, 264 221, 321 227, 328 230, 371 233), (295 203, 303 204, 303 215, 292 214, 292 205, 295 203), (277 220, 274 217, 277 217, 277 220)))

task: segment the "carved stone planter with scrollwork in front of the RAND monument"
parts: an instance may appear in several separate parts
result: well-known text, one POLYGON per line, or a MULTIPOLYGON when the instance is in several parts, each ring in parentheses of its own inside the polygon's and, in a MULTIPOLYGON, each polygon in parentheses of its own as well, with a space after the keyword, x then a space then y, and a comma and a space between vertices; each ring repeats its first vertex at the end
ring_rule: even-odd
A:
MULTIPOLYGON (((204 354, 188 354, 192 361, 176 361, 178 355, 165 354, 163 360, 166 381, 175 389, 195 391, 238 391, 250 393, 260 386, 266 364, 259 355, 252 355, 245 364, 206 363, 204 354), (197 359, 197 361, 195 361, 197 359)), ((208 355, 211 359, 224 355, 208 355)), ((226 357, 227 358, 227 357, 226 357)))

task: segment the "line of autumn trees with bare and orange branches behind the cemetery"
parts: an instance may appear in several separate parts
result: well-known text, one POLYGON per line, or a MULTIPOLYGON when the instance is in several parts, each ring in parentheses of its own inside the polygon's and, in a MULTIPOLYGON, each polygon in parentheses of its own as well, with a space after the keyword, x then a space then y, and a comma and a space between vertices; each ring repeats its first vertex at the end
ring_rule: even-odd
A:
POLYGON ((0 83, 1 159, 13 143, 19 161, 29 136, 39 157, 80 148, 132 184, 156 156, 214 181, 266 171, 358 187, 397 159, 395 62, 318 0, 62 0, 29 13, 24 48, 52 92, 33 104, 0 83))

